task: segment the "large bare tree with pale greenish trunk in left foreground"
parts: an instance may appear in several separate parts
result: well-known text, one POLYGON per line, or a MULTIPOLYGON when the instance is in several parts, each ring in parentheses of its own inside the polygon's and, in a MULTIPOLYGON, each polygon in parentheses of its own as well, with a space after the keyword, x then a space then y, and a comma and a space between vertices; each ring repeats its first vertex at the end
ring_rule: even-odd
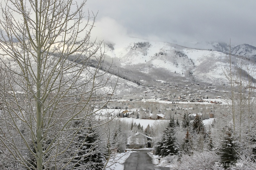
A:
POLYGON ((85 15, 85 3, 1 4, 0 147, 11 155, 5 157, 13 162, 9 166, 73 169, 81 148, 72 147, 79 131, 111 121, 93 111, 100 96, 113 94, 116 83, 107 84, 111 77, 100 70, 104 48, 90 41, 95 15, 85 15))

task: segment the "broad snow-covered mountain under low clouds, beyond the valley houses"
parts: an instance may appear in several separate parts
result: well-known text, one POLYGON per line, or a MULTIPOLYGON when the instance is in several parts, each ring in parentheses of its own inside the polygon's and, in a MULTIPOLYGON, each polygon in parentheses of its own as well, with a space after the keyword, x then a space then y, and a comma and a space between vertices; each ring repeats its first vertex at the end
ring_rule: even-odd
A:
MULTIPOLYGON (((225 44, 214 44, 216 49, 227 52, 225 44)), ((214 50, 186 48, 179 45, 130 38, 120 44, 108 44, 106 61, 112 63, 113 72, 121 77, 145 85, 159 82, 226 82, 223 69, 226 53, 214 50)), ((234 48, 235 51, 238 48, 234 48)), ((241 46, 241 49, 243 47, 241 46)), ((245 51, 245 47, 244 47, 245 51)), ((252 51, 252 50, 250 50, 252 51)), ((236 53, 235 53, 236 54, 236 53)), ((241 53, 240 53, 241 54, 241 53)), ((243 57, 232 55, 232 60, 243 57)), ((249 61, 254 67, 254 63, 249 61)))

